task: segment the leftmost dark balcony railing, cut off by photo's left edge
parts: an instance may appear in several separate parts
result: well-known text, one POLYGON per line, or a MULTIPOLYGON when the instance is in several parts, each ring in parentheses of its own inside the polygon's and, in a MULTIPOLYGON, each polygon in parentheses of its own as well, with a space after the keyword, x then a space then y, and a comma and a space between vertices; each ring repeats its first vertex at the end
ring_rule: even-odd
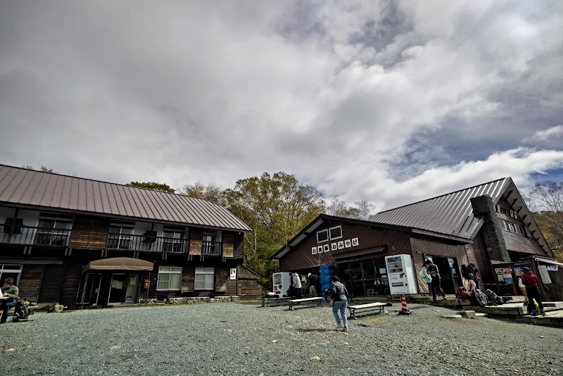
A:
POLYGON ((70 230, 0 225, 0 244, 68 246, 70 230))

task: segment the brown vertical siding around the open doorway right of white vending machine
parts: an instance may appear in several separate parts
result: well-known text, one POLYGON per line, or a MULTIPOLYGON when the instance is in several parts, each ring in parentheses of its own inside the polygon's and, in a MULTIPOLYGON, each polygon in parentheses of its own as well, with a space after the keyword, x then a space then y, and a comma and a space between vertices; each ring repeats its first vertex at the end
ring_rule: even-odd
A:
POLYGON ((417 275, 419 292, 429 292, 428 285, 424 282, 424 277, 421 277, 418 273, 424 265, 424 255, 455 257, 457 259, 457 266, 460 270, 462 264, 467 264, 467 256, 465 254, 465 247, 463 244, 443 242, 440 239, 419 237, 415 235, 410 238, 410 243, 412 246, 412 261, 417 275))

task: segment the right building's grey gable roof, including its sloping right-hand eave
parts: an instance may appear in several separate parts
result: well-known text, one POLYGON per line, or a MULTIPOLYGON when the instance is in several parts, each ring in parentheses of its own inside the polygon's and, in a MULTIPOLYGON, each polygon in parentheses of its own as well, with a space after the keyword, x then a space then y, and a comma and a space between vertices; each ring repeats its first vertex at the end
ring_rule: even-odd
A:
POLYGON ((505 196, 521 220, 529 227, 534 239, 548 255, 552 255, 548 242, 510 177, 382 211, 374 215, 372 220, 473 239, 481 229, 484 218, 483 215, 474 215, 471 199, 483 195, 491 196, 495 205, 502 196, 505 196))

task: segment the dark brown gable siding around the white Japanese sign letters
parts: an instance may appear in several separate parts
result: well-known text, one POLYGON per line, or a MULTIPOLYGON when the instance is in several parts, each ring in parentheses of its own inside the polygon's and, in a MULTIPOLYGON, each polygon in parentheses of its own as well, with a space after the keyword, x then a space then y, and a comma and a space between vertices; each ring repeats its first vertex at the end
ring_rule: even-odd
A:
POLYGON ((367 225, 350 225, 348 223, 336 222, 323 225, 303 239, 295 248, 291 249, 279 260, 279 270, 289 272, 291 270, 302 270, 315 268, 321 265, 334 264, 333 254, 346 253, 350 251, 361 251, 374 249, 379 246, 387 246, 386 252, 377 253, 380 256, 411 253, 409 233, 398 230, 384 230, 372 228, 367 225), (334 241, 317 243, 317 232, 330 227, 342 226, 342 238, 334 241), (358 238, 358 246, 329 251, 328 253, 312 254, 312 247, 332 243, 338 243, 346 239, 358 238))

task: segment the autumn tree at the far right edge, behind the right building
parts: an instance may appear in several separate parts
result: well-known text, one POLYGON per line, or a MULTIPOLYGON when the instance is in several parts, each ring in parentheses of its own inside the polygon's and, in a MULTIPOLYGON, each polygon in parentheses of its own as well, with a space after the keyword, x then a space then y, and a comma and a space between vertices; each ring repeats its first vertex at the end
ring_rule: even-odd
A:
POLYGON ((563 182, 536 182, 527 196, 533 218, 559 261, 563 261, 563 182))

